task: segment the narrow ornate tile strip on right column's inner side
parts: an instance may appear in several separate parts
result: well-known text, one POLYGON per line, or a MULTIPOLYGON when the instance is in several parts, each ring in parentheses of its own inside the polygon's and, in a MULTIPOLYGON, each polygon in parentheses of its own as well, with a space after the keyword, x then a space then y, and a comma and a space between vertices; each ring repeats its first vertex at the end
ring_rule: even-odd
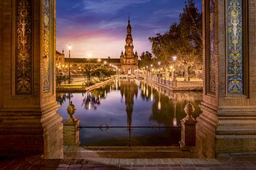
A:
POLYGON ((215 2, 214 0, 209 1, 210 11, 210 87, 209 91, 215 93, 215 2))

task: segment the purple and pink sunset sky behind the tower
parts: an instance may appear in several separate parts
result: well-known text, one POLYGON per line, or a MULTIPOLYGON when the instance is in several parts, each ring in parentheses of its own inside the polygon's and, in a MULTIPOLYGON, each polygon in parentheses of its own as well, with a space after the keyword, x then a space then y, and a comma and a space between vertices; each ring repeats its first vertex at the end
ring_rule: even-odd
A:
MULTIPOLYGON (((195 0, 201 10, 201 0, 195 0)), ((72 45, 71 57, 118 58, 124 50, 128 16, 134 50, 151 52, 148 38, 178 22, 185 0, 58 0, 57 50, 72 45)))

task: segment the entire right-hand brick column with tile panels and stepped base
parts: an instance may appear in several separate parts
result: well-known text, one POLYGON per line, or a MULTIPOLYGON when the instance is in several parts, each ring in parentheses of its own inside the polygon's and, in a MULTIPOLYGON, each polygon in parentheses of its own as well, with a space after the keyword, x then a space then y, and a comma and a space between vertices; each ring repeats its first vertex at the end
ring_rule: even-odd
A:
POLYGON ((203 1, 200 157, 256 151, 255 0, 203 1))

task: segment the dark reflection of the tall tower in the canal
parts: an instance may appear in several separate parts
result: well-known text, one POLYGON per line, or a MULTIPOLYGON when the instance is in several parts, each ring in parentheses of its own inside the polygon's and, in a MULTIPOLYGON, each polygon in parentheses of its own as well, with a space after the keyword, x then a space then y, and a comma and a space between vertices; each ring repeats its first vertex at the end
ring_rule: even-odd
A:
POLYGON ((134 96, 138 96, 138 86, 133 80, 127 79, 121 82, 122 86, 120 88, 120 93, 123 98, 125 98, 125 106, 127 112, 127 125, 132 124, 132 112, 134 105, 134 96))

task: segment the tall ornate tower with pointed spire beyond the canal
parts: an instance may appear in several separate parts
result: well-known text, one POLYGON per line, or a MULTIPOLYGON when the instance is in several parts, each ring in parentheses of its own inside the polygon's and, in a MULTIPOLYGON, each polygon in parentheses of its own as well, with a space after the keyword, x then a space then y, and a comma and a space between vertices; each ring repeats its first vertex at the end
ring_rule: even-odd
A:
POLYGON ((134 45, 132 40, 132 26, 130 20, 128 20, 127 26, 127 38, 125 39, 125 52, 121 52, 121 70, 124 74, 134 74, 138 69, 138 54, 134 54, 134 45))

